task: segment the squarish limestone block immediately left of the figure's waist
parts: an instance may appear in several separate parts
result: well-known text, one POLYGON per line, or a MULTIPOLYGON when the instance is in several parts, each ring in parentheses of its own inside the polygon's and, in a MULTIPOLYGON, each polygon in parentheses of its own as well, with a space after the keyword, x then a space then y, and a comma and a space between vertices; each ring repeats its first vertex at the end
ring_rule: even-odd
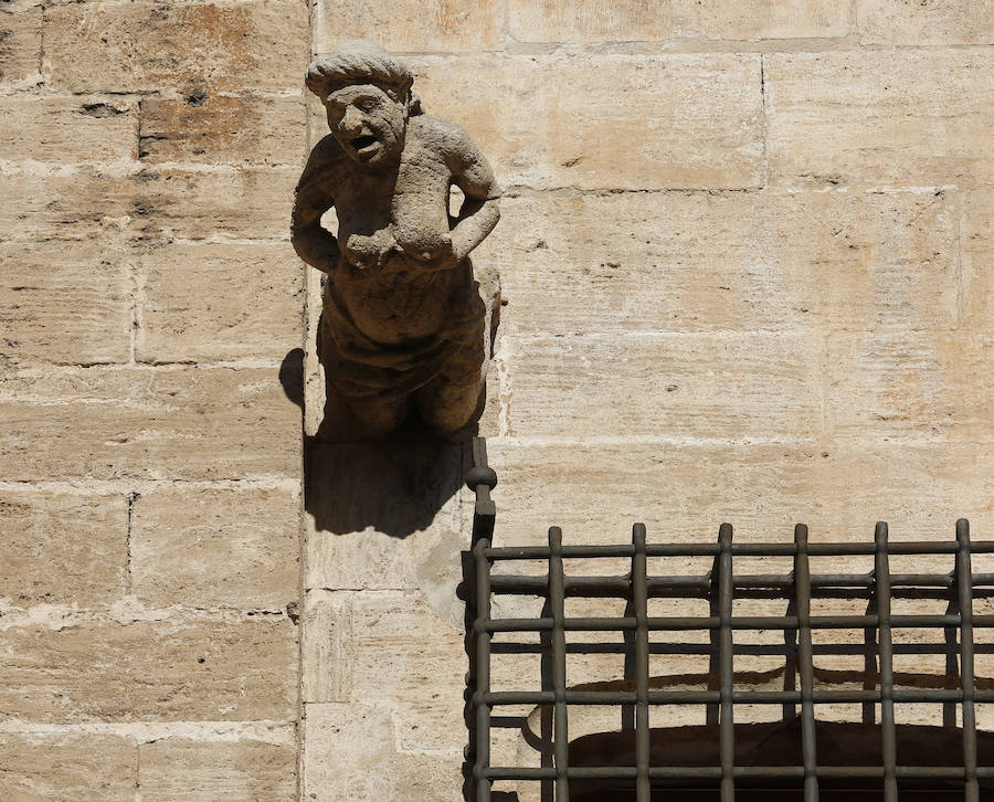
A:
POLYGON ((299 345, 304 270, 289 245, 150 243, 138 261, 139 361, 283 359, 299 345))

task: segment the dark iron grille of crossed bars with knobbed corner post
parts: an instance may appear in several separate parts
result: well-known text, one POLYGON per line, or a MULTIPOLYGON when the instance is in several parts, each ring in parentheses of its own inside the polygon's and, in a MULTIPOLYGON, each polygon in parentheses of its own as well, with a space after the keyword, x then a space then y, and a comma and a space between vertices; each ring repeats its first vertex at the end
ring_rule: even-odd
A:
MULTIPOLYGON (((470 551, 464 552, 464 598, 466 599, 466 648, 469 672, 466 675, 466 724, 469 742, 466 748, 464 795, 468 802, 488 802, 491 789, 499 781, 532 781, 541 783, 543 800, 568 802, 570 783, 579 781, 621 780, 631 782, 633 794, 625 799, 649 802, 656 781, 710 781, 717 784, 721 802, 734 799, 737 783, 744 780, 803 781, 803 799, 818 799, 819 781, 839 778, 863 778, 882 784, 884 799, 896 802, 898 783, 903 780, 951 780, 962 783, 963 798, 979 802, 994 799, 994 767, 979 764, 975 705, 994 701, 994 690, 977 688, 974 678, 975 653, 992 654, 994 646, 974 644, 975 627, 994 626, 994 615, 975 615, 976 599, 994 598, 994 573, 974 573, 971 555, 994 553, 994 541, 971 542, 965 519, 956 521, 955 540, 947 542, 906 542, 888 539, 887 524, 876 526, 873 542, 810 542, 807 528, 797 525, 793 542, 736 544, 732 527, 722 524, 717 542, 652 544, 646 529, 635 524, 632 541, 616 546, 569 546, 562 542, 558 527, 549 529, 546 546, 496 547, 491 542, 496 507, 490 489, 497 484, 496 473, 487 466, 486 443, 474 442, 474 467, 467 484, 476 493, 470 551), (793 570, 784 574, 737 574, 736 557, 789 558, 793 570), (812 573, 813 557, 873 558, 868 573, 812 573), (953 563, 949 573, 891 572, 893 556, 945 557, 953 563), (647 560, 654 557, 706 557, 713 563, 706 576, 652 576, 647 560), (571 558, 599 560, 626 558, 631 570, 626 576, 569 576, 563 561, 571 558), (495 572, 495 563, 528 561, 542 563, 544 576, 518 576, 495 572), (782 599, 786 614, 742 616, 733 614, 732 601, 740 593, 766 593, 765 598, 782 599), (491 600, 501 594, 527 595, 546 602, 542 614, 536 618, 494 618, 491 600), (948 600, 945 614, 891 614, 891 599, 948 600), (627 602, 621 618, 571 618, 565 614, 565 600, 571 598, 606 598, 627 602), (707 616, 649 616, 648 600, 656 598, 696 598, 709 603, 707 616), (865 599, 863 615, 814 615, 812 599, 865 599), (942 644, 934 644, 924 653, 945 654, 949 678, 956 687, 911 688, 895 687, 893 631, 934 627, 944 633, 942 644), (784 650, 793 689, 737 690, 733 683, 737 631, 779 631, 787 633, 792 646, 784 650), (868 653, 876 661, 875 682, 860 690, 816 689, 814 682, 814 651, 812 632, 818 630, 861 630, 867 633, 865 644, 856 653, 868 653), (707 631, 710 633, 709 654, 717 687, 696 690, 654 690, 649 684, 649 654, 666 652, 665 644, 652 644, 653 633, 707 631), (578 690, 567 685, 567 633, 614 632, 626 635, 624 648, 633 657, 634 690, 578 690), (539 633, 544 639, 551 662, 549 677, 543 677, 541 690, 501 690, 490 687, 491 641, 504 633, 539 633), (949 663, 952 654, 952 665, 949 663), (959 667, 956 667, 956 663, 959 667), (794 672, 800 676, 795 685, 794 672), (934 767, 902 764, 897 753, 895 707, 909 703, 933 703, 943 706, 943 722, 956 728, 956 713, 962 721, 962 766, 934 767), (858 704, 863 706, 864 722, 875 724, 879 714, 879 738, 882 760, 877 766, 825 766, 818 762, 816 708, 822 704, 858 704), (544 706, 551 709, 552 749, 540 767, 493 766, 490 736, 499 708, 506 706, 544 706), (573 706, 596 705, 634 708, 631 722, 635 745, 632 766, 571 766, 569 751, 569 718, 573 706), (705 705, 708 721, 718 730, 717 766, 656 766, 651 761, 649 709, 668 705, 705 705), (782 706, 784 717, 795 714, 800 706, 801 754, 795 766, 737 766, 736 708, 739 705, 782 706)), ((986 741, 985 741, 986 742, 986 741)), ((988 757, 990 754, 985 754, 988 757)), ((994 762, 994 761, 992 761, 994 762)), ((497 799, 515 799, 499 795, 497 799)))

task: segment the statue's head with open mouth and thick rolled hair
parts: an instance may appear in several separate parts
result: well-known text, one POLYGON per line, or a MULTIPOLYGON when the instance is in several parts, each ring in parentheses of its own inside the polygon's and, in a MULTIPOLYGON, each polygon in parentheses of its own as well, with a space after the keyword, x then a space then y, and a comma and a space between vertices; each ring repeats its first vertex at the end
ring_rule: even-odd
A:
POLYGON ((413 83, 406 64, 370 42, 347 42, 307 68, 307 88, 325 105, 331 134, 369 167, 399 158, 408 118, 421 112, 413 83))

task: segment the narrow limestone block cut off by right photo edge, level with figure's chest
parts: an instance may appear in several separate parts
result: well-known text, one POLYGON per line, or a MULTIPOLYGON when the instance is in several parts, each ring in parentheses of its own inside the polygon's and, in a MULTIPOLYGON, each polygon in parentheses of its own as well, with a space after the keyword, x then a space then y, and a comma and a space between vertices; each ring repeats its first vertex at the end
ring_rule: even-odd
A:
POLYGON ((988 191, 966 192, 960 236, 963 258, 963 325, 994 327, 994 199, 988 191))

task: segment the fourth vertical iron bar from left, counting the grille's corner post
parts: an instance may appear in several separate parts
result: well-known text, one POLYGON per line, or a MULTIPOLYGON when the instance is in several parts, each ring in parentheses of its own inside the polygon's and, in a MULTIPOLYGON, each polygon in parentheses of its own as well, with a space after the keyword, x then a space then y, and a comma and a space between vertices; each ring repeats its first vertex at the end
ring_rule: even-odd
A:
POLYGON ((736 725, 732 715, 734 657, 731 630, 732 614, 732 528, 722 524, 718 530, 718 683, 720 716, 718 720, 721 760, 721 802, 734 802, 736 725))

